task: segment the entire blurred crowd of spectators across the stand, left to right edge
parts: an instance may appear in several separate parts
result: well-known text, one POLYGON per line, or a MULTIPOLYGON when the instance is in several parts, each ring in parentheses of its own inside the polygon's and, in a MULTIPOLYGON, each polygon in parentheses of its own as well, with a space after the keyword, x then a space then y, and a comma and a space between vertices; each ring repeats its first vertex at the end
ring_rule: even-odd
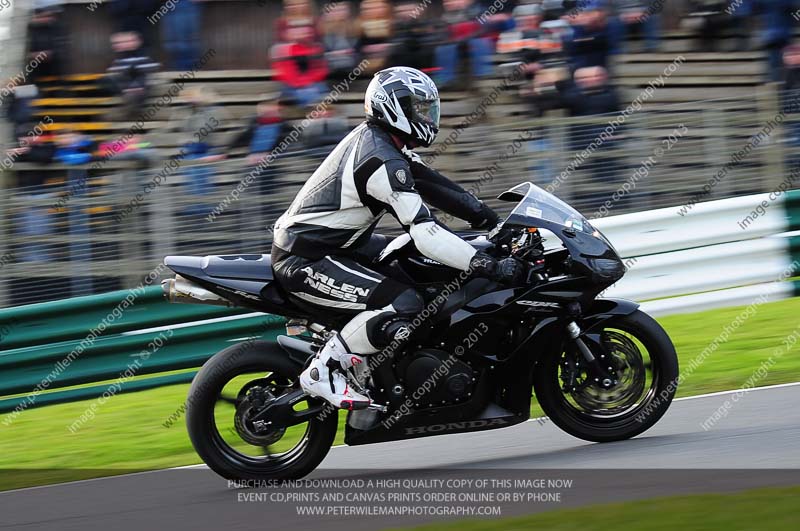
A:
MULTIPOLYGON (((793 87, 799 77, 797 45, 792 43, 794 24, 800 19, 795 2, 684 0, 682 25, 696 31, 703 50, 721 49, 719 37, 734 28, 729 32, 735 40, 733 49, 766 50, 770 79, 793 87)), ((630 51, 631 35, 641 36, 637 51, 658 51, 665 4, 663 0, 442 0, 440 5, 428 0, 339 0, 320 7, 312 0, 283 0, 281 16, 271 31, 273 44, 264 54, 280 95, 258 105, 231 146, 189 147, 193 157, 203 160, 218 160, 227 147, 246 147, 248 160, 255 162, 279 141, 282 110, 287 106, 309 108, 329 92, 329 84, 354 69, 368 76, 391 65, 427 72, 443 91, 480 90, 482 79, 503 76, 522 65, 525 80, 519 94, 530 102, 533 116, 557 108, 573 116, 614 112, 620 98, 614 89, 611 56, 630 51)), ((36 5, 29 23, 28 55, 40 58, 39 65, 29 85, 15 87, 4 101, 17 137, 34 121, 30 103, 41 97, 38 81, 65 71, 68 35, 62 7, 57 0, 39 0, 36 5)), ((197 62, 203 2, 173 2, 171 10, 159 14, 159 45, 150 19, 161 5, 159 0, 109 4, 116 24, 111 36, 114 58, 101 86, 122 102, 114 119, 135 118, 152 95, 154 72, 185 71, 197 62)), ((185 99, 192 113, 204 105, 185 99)), ((346 130, 334 112, 315 125, 330 144, 346 130)), ((319 136, 309 138, 319 143, 319 136)), ((129 150, 146 145, 137 137, 129 150)), ((68 127, 20 148, 14 148, 20 160, 65 164, 83 163, 103 151, 68 127)))

